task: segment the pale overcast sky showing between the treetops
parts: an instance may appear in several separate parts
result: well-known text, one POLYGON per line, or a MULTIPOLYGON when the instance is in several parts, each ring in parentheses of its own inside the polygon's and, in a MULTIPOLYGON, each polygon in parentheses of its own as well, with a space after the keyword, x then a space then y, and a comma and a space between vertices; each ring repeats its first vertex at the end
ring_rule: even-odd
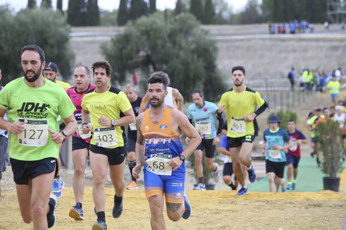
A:
MULTIPOLYGON (((112 11, 113 9, 119 8, 119 1, 120 0, 99 0, 99 8, 104 10, 112 11)), ((239 9, 242 9, 247 2, 247 0, 226 0, 229 2, 229 4, 233 5, 233 10, 238 11, 239 9)), ((41 4, 41 0, 36 0, 38 3, 38 6, 41 4)), ((175 8, 175 2, 176 0, 156 0, 156 8, 160 10, 164 10, 166 8, 168 9, 174 9, 175 8)), ((0 5, 2 4, 10 4, 12 8, 15 9, 15 11, 19 11, 22 8, 26 8, 28 4, 28 0, 0 0, 0 5)), ((63 0, 63 10, 67 9, 67 4, 69 3, 69 0, 63 0)), ((52 0, 52 6, 55 9, 56 8, 56 0, 52 0)))

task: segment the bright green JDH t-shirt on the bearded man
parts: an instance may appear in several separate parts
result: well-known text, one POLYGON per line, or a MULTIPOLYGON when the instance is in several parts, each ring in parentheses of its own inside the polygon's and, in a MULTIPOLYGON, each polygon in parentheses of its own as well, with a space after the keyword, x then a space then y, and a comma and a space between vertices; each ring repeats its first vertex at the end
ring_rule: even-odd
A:
POLYGON ((33 88, 21 77, 1 90, 0 107, 8 110, 10 122, 25 123, 25 131, 18 135, 10 133, 11 158, 25 161, 58 158, 58 144, 52 141, 47 128, 59 131, 57 117, 70 117, 76 110, 62 87, 46 80, 42 87, 33 88))

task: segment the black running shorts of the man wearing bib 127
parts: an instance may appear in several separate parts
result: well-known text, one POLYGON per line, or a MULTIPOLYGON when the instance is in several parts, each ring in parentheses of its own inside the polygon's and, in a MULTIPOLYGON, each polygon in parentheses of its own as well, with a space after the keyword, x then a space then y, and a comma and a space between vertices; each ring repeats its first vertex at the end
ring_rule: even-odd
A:
POLYGON ((16 184, 28 185, 29 178, 32 180, 45 173, 55 171, 54 177, 58 173, 58 161, 54 157, 44 158, 37 161, 22 161, 10 158, 13 180, 16 184))

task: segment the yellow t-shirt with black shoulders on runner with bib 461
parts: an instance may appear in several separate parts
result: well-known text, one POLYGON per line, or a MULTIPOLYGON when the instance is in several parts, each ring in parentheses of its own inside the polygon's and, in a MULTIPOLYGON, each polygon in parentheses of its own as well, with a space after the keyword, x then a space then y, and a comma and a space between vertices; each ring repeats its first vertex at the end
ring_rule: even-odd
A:
POLYGON ((245 122, 244 116, 255 112, 256 105, 261 107, 264 103, 260 93, 247 87, 240 93, 235 92, 232 88, 222 94, 219 105, 225 104, 225 110, 227 110, 227 137, 257 136, 256 119, 252 122, 245 122))

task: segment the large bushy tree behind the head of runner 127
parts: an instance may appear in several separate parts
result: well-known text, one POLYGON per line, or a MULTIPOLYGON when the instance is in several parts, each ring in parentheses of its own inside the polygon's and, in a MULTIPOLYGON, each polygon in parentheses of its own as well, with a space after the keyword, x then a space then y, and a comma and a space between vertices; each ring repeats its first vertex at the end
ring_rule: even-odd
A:
POLYGON ((27 8, 16 15, 8 10, 1 13, 0 44, 6 44, 0 45, 0 63, 6 63, 0 66, 2 85, 23 76, 19 55, 23 46, 30 44, 44 50, 46 61, 55 62, 63 78, 71 76, 74 54, 69 47, 70 28, 61 13, 46 8, 27 8))

